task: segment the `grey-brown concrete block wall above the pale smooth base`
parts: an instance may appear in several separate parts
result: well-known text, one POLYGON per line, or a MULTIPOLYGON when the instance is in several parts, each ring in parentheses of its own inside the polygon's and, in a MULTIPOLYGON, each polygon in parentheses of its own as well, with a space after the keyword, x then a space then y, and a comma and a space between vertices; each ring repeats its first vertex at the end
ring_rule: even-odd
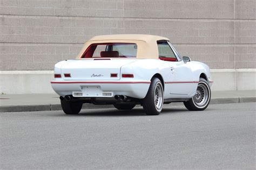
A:
POLYGON ((52 70, 99 34, 168 37, 215 69, 256 68, 255 0, 0 0, 0 70, 52 70))

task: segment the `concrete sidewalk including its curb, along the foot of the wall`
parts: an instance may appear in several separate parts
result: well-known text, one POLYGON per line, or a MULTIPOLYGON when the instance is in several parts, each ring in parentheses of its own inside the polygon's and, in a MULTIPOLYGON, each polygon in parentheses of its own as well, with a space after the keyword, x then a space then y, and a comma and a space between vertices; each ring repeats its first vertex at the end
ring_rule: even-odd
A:
MULTIPOLYGON (((211 104, 244 102, 256 102, 256 90, 212 91, 211 104)), ((84 104, 83 108, 113 108, 113 106, 84 104)), ((57 94, 0 95, 0 112, 47 110, 62 110, 57 94)))

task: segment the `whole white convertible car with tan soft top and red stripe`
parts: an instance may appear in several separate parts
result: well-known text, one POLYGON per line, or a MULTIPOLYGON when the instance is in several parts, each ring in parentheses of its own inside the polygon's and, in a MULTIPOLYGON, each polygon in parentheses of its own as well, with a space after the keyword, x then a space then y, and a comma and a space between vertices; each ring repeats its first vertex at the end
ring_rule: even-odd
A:
POLYGON ((168 38, 120 34, 85 42, 75 60, 55 65, 51 85, 65 114, 78 114, 83 103, 93 103, 120 110, 141 104, 147 115, 158 115, 171 102, 206 109, 212 80, 207 65, 181 58, 168 38))

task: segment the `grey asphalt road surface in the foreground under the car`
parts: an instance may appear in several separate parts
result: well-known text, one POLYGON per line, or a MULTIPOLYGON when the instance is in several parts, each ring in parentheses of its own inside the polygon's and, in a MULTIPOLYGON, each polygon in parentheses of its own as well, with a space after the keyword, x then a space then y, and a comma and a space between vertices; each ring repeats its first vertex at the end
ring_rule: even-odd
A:
MULTIPOLYGON (((170 105, 171 106, 171 105, 170 105)), ((255 103, 0 114, 1 169, 255 168, 255 103)))

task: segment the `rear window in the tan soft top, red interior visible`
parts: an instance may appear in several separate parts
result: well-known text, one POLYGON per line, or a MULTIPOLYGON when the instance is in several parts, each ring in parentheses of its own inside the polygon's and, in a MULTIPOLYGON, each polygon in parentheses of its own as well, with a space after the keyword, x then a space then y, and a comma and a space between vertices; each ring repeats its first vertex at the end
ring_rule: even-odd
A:
POLYGON ((136 58, 137 45, 133 43, 92 44, 81 58, 136 58))

